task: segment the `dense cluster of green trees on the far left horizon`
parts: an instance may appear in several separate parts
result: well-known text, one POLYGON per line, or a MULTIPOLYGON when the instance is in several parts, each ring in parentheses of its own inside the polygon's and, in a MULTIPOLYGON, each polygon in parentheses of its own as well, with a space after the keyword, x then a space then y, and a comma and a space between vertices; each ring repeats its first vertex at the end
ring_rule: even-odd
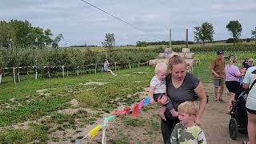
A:
POLYGON ((52 37, 50 29, 32 26, 27 20, 0 21, 0 47, 58 47, 58 42, 64 39, 62 34, 52 37))

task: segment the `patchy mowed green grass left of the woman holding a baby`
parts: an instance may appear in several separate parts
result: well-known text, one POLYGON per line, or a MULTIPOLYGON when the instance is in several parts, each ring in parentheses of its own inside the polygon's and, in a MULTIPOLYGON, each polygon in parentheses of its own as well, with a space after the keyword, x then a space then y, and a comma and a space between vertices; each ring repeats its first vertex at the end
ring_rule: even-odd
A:
POLYGON ((0 143, 46 142, 47 133, 53 123, 62 124, 56 129, 75 128, 74 118, 80 118, 83 124, 93 123, 100 115, 86 117, 82 114, 57 114, 57 110, 72 107, 68 102, 77 99, 79 106, 110 112, 117 105, 115 98, 124 98, 122 102, 132 104, 136 98, 125 99, 127 95, 143 91, 154 75, 152 67, 139 67, 130 70, 118 70, 117 77, 110 74, 87 74, 69 78, 34 79, 20 83, 4 83, 0 86, 0 143), (107 82, 107 84, 85 85, 86 82, 107 82), (43 90, 45 95, 36 90, 43 90), (50 116, 43 122, 38 119, 50 116), (66 122, 68 119, 68 122, 66 122), (34 122, 28 130, 10 129, 22 122, 34 122), (36 132, 37 131, 37 132, 36 132))

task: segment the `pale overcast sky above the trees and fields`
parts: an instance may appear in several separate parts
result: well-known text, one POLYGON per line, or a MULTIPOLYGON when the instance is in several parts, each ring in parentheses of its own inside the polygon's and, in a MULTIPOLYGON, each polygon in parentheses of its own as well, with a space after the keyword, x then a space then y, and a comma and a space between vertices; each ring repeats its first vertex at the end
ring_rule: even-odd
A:
POLYGON ((256 26, 256 0, 0 0, 0 20, 28 20, 32 26, 50 29, 54 36, 62 33, 63 46, 102 46, 106 33, 114 33, 116 45, 134 45, 137 41, 194 41, 194 26, 210 22, 214 40, 231 38, 226 24, 238 20, 241 38, 250 38, 256 26), (138 27, 135 28, 134 26, 138 27))

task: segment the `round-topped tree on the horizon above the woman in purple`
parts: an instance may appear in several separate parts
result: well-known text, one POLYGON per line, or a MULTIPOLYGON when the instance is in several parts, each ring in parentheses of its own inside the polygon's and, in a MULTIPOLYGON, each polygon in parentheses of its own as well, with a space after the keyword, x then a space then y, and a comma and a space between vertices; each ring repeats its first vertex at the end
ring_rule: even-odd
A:
MULTIPOLYGON (((227 25, 226 28, 228 31, 231 32, 231 35, 234 38, 234 42, 238 40, 242 33, 242 25, 238 21, 230 21, 227 25)), ((233 43, 234 43, 233 42, 233 43)))

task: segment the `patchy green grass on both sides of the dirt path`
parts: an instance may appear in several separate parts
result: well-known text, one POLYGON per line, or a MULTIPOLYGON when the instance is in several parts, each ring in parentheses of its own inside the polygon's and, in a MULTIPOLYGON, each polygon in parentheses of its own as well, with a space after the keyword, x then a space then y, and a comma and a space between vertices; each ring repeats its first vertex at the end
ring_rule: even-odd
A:
MULTIPOLYGON (((239 60, 255 58, 250 52, 237 55, 239 60)), ((194 74, 204 83, 211 82, 208 66, 216 54, 198 53, 196 57, 201 63, 194 67, 194 74)), ((137 93, 145 91, 143 88, 149 85, 154 69, 144 66, 116 73, 117 77, 90 74, 37 81, 27 79, 17 84, 0 85, 0 143, 47 143, 63 139, 74 142, 81 138, 75 137, 82 133, 78 129, 94 124, 103 114, 118 108, 120 103, 131 106, 138 102, 141 98, 137 93), (63 113, 65 110, 77 111, 63 113), (65 135, 62 139, 54 135, 60 131, 65 135), (72 131, 70 135, 73 137, 68 131, 72 131)), ((144 123, 134 119, 123 119, 122 122, 135 127, 144 123)))

